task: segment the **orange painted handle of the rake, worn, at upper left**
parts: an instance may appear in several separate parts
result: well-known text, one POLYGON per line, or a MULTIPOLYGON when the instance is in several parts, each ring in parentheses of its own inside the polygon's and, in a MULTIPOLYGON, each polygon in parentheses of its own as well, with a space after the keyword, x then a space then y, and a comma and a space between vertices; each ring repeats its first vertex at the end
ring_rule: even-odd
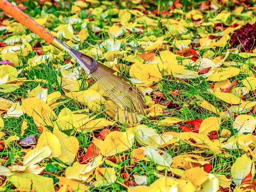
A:
POLYGON ((52 43, 54 36, 48 32, 45 28, 43 28, 39 23, 34 21, 31 17, 23 13, 20 9, 15 7, 7 0, 0 0, 0 9, 2 9, 5 13, 11 15, 14 19, 22 23, 22 25, 26 26, 29 30, 37 34, 39 37, 46 40, 48 43, 52 43))

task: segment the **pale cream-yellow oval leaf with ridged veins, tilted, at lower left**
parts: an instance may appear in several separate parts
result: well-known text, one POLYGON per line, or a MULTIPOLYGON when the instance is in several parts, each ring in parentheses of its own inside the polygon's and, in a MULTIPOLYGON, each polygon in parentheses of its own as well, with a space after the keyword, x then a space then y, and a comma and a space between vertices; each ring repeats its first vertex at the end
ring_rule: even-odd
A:
POLYGON ((49 146, 36 147, 35 149, 28 151, 24 156, 23 165, 30 166, 37 164, 41 160, 49 157, 51 153, 52 151, 49 146))

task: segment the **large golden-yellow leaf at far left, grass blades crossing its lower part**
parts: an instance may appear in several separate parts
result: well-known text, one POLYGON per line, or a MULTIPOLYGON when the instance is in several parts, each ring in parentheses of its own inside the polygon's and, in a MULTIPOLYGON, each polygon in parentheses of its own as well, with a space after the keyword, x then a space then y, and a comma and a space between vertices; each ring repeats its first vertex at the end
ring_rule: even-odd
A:
POLYGON ((52 126, 53 120, 56 119, 54 111, 43 100, 33 97, 22 100, 22 106, 28 114, 33 117, 37 126, 52 126))

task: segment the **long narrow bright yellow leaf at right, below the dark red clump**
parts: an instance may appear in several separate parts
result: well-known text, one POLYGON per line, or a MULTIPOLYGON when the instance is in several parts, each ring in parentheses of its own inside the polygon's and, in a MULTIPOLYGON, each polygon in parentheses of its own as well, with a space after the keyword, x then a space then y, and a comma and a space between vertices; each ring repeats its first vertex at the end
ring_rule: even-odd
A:
POLYGON ((239 72, 240 72, 239 68, 229 67, 222 72, 214 73, 213 75, 210 75, 209 77, 207 77, 207 81, 223 81, 230 77, 234 77, 238 75, 239 72))

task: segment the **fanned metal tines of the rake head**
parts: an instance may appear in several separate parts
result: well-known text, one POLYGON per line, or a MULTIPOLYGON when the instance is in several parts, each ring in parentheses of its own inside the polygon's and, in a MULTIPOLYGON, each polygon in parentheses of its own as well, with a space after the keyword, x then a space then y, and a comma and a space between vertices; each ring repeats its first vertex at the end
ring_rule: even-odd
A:
POLYGON ((128 120, 129 123, 139 122, 138 113, 145 113, 145 104, 141 93, 137 87, 131 87, 128 79, 114 75, 114 73, 116 71, 98 62, 98 67, 90 75, 115 102, 117 119, 119 119, 119 107, 121 107, 125 120, 128 120))

